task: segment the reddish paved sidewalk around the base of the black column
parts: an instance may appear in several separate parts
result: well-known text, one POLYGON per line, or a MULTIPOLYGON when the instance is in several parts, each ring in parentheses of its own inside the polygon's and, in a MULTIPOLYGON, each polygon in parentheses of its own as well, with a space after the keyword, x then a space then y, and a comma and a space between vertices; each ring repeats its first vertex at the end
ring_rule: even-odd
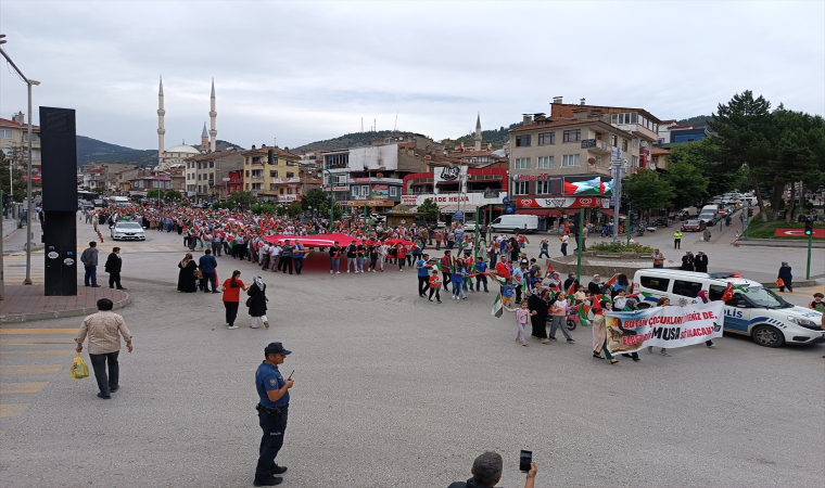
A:
POLYGON ((129 294, 102 286, 80 286, 77 296, 46 296, 43 285, 5 285, 5 298, 0 301, 0 324, 33 320, 61 319, 94 313, 98 300, 110 298, 115 310, 131 303, 129 294))

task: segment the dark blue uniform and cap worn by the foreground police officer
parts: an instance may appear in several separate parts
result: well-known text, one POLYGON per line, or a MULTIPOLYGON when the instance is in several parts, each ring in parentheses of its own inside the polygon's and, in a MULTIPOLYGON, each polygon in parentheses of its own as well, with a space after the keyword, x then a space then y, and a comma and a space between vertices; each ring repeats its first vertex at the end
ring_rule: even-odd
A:
MULTIPOLYGON (((289 355, 292 351, 283 348, 281 343, 271 343, 265 349, 264 354, 289 355)), ((285 468, 279 467, 275 463, 278 451, 283 446, 283 434, 287 431, 287 416, 290 406, 290 393, 287 390, 278 401, 269 401, 267 391, 280 389, 284 385, 283 376, 278 367, 271 365, 266 361, 262 362, 255 372, 255 387, 257 388, 261 402, 256 409, 261 428, 264 435, 261 438, 261 448, 257 467, 255 468, 255 480, 267 479, 275 474, 280 474, 285 468)))

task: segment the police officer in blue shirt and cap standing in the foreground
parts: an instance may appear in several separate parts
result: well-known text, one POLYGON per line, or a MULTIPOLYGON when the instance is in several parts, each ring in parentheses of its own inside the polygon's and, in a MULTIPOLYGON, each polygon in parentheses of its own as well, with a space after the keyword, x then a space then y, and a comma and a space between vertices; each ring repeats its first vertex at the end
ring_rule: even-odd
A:
POLYGON ((264 362, 255 372, 255 387, 261 397, 256 409, 261 428, 264 431, 261 438, 261 457, 255 468, 255 486, 280 485, 283 478, 275 475, 287 472, 285 466, 275 463, 275 458, 283 446, 290 406, 289 389, 292 388, 293 382, 283 378, 278 371, 278 364, 283 364, 283 360, 291 352, 284 349, 281 343, 269 343, 264 348, 264 362))

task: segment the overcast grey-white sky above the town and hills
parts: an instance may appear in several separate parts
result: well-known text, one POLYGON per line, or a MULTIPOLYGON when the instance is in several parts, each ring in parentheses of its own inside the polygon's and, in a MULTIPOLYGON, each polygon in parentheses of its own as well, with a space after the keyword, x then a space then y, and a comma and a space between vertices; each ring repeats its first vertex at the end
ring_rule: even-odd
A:
MULTIPOLYGON (((78 133, 157 147, 218 139, 296 146, 397 127, 435 139, 568 103, 715 111, 750 89, 825 113, 825 2, 0 2, 3 47, 42 82, 35 106, 77 110, 78 133)), ((5 62, 2 62, 5 64, 5 62)), ((26 111, 0 68, 0 117, 26 111)), ((37 113, 37 108, 35 108, 37 113)))

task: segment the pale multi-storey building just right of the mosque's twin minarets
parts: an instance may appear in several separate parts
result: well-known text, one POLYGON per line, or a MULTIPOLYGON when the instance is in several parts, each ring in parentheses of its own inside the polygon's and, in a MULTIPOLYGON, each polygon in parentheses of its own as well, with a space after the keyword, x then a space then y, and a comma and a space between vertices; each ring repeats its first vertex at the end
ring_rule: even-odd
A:
POLYGON ((236 149, 202 153, 186 159, 186 194, 189 200, 213 202, 219 197, 216 187, 230 171, 243 168, 243 152, 236 149))

